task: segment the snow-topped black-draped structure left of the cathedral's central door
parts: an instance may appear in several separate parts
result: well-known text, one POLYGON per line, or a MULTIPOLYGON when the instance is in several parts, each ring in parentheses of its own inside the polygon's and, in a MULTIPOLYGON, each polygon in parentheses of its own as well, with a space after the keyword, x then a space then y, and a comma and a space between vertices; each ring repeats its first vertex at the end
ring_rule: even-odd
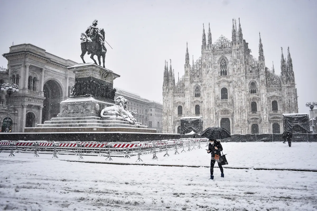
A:
POLYGON ((194 131, 197 134, 201 134, 203 131, 203 118, 191 117, 180 119, 180 134, 190 133, 194 131))

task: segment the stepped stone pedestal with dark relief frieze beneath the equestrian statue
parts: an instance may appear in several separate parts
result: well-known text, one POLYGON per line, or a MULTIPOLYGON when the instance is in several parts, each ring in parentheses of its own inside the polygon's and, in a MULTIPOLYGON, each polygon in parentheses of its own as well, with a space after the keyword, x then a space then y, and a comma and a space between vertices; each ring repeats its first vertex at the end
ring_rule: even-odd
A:
MULTIPOLYGON (((137 127, 122 121, 117 115, 113 118, 101 118, 100 111, 113 106, 115 89, 113 80, 120 77, 93 63, 68 67, 75 73, 75 85, 72 96, 60 103, 60 113, 56 118, 25 128, 24 132, 137 132, 156 133, 147 126, 137 127)), ((139 123, 140 124, 140 123, 139 123)))

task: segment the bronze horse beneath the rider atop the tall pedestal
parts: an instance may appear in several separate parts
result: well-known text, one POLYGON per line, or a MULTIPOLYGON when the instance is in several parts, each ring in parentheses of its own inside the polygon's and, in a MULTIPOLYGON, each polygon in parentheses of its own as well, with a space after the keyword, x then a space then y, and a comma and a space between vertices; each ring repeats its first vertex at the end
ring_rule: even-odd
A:
MULTIPOLYGON (((100 30, 100 34, 103 36, 103 38, 105 37, 105 31, 103 29, 100 30)), ((84 55, 88 52, 88 55, 91 54, 90 58, 92 60, 94 60, 94 63, 96 65, 98 65, 98 64, 97 64, 96 60, 94 59, 94 55, 97 55, 98 62, 99 62, 100 66, 101 66, 100 58, 102 57, 103 67, 105 67, 105 56, 107 53, 107 48, 105 46, 103 46, 103 48, 105 50, 103 52, 101 44, 99 42, 96 42, 95 40, 88 41, 86 34, 81 34, 81 40, 84 40, 84 41, 81 41, 81 55, 80 55, 83 63, 86 63, 84 60, 84 55)))

